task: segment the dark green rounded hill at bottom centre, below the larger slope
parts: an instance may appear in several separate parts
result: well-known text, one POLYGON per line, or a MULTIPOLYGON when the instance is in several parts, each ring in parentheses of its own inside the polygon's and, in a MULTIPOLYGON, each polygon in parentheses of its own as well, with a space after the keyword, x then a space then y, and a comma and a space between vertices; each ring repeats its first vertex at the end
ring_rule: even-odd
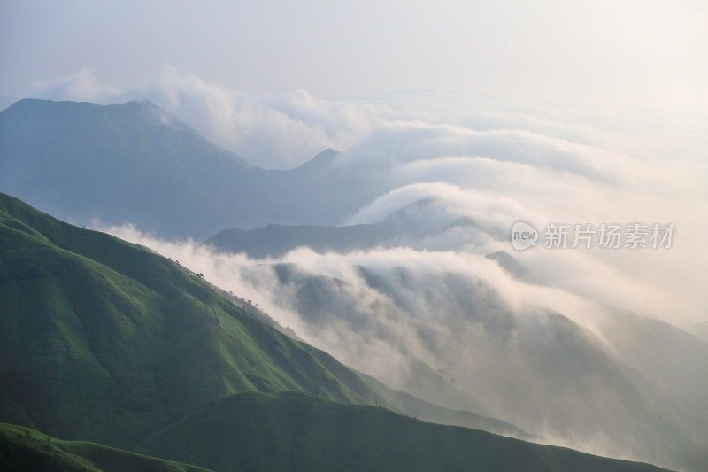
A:
POLYGON ((294 392, 224 398, 152 437, 139 452, 220 472, 661 470, 294 392))

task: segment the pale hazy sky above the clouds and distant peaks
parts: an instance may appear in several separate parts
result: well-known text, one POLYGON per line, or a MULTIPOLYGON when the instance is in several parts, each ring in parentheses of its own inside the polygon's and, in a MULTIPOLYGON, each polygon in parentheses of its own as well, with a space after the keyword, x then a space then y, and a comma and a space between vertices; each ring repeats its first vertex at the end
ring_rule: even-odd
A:
POLYGON ((708 104, 702 0, 0 4, 0 96, 88 67, 117 89, 169 64, 247 93, 450 90, 678 110, 708 104))

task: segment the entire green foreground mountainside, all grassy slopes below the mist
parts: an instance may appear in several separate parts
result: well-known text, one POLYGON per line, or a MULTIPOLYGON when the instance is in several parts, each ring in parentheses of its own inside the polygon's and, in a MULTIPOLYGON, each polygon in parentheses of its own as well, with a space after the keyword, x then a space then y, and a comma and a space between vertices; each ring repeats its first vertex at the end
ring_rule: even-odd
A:
POLYGON ((352 407, 404 410, 175 261, 3 194, 0 298, 0 419, 61 439, 0 428, 20 468, 189 469, 64 442, 90 440, 218 470, 657 469, 352 407))

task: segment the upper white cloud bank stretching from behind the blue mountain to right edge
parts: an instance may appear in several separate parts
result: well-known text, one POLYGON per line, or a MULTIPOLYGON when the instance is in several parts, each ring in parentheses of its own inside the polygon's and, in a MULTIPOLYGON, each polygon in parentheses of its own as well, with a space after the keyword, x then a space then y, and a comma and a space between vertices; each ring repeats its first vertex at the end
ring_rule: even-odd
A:
POLYGON ((544 284, 593 299, 609 298, 617 306, 671 317, 677 324, 701 321, 708 306, 700 288, 708 282, 700 268, 708 263, 703 251, 708 222, 702 218, 708 166, 693 159, 705 150, 704 142, 693 139, 690 131, 677 131, 690 128, 671 128, 662 135, 655 117, 648 123, 623 120, 620 131, 608 132, 596 126, 597 120, 603 122, 597 113, 589 120, 578 114, 566 122, 558 117, 567 111, 533 116, 528 113, 539 108, 517 112, 500 105, 495 112, 483 100, 435 93, 369 101, 322 100, 302 90, 254 96, 172 66, 120 94, 98 84, 89 70, 45 84, 45 89, 47 94, 84 93, 106 100, 151 98, 205 134, 221 136, 230 148, 253 151, 260 165, 295 165, 324 147, 340 147, 344 152, 335 164, 366 175, 381 189, 379 197, 348 217, 348 224, 381 221, 405 205, 435 198, 436 205, 415 216, 421 231, 442 230, 462 216, 472 217, 483 230, 450 230, 417 245, 409 242, 419 249, 508 250, 499 236, 519 218, 540 227, 552 221, 671 221, 678 230, 670 251, 534 251, 517 257, 535 267, 544 284), (469 128, 470 122, 478 129, 469 128), (519 129, 523 126, 534 130, 519 129), (676 147, 689 143, 690 151, 660 159, 656 139, 640 146, 639 138, 649 134, 676 147), (595 140, 602 145, 585 143, 595 140), (468 244, 460 244, 464 238, 468 244), (636 285, 649 287, 651 296, 628 285, 613 291, 615 279, 605 270, 619 275, 622 283, 634 279, 636 285))

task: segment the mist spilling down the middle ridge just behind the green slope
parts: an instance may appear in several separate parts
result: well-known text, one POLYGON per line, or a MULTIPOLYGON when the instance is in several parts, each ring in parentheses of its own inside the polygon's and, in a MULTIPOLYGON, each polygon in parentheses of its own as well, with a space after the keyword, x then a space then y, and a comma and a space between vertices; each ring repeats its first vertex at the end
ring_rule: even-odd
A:
MULTIPOLYGON (((655 419, 659 396, 636 390, 606 340, 604 321, 613 314, 606 300, 521 282, 466 251, 319 254, 301 248, 281 259, 248 259, 194 242, 158 241, 131 228, 110 232, 204 273, 306 342, 392 388, 512 422, 551 444, 677 464, 673 439, 640 434, 664 428, 655 419)), ((631 287, 607 275, 615 290, 622 283, 631 287)), ((652 301, 649 290, 634 289, 618 291, 652 301)), ((640 385, 648 390, 648 382, 640 385)), ((666 416, 682 430, 706 432, 666 416)))

